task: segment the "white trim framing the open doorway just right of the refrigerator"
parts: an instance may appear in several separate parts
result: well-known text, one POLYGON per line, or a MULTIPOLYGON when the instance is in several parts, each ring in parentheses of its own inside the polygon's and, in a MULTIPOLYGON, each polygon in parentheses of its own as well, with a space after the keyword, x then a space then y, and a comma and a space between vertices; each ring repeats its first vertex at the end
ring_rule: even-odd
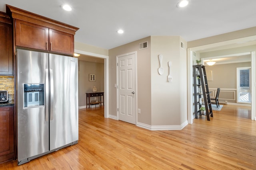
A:
POLYGON ((87 51, 81 51, 81 50, 76 50, 75 53, 79 53, 82 55, 89 55, 91 57, 97 57, 104 59, 104 117, 108 118, 109 117, 109 64, 108 64, 108 56, 107 55, 100 55, 96 53, 90 53, 87 51))

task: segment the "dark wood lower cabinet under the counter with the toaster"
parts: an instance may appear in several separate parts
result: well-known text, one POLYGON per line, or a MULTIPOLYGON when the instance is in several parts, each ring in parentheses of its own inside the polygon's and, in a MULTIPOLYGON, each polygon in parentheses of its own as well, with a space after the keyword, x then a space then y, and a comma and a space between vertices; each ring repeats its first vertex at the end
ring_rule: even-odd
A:
POLYGON ((0 107, 0 163, 14 159, 14 106, 0 107))

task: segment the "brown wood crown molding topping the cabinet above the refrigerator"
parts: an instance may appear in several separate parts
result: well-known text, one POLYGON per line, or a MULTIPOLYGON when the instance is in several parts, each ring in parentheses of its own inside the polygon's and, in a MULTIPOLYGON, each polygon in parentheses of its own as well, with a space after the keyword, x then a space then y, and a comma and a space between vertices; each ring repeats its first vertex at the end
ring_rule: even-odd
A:
MULTIPOLYGON (((13 6, 6 4, 6 13, 10 15, 13 19, 23 20, 31 23, 36 23, 44 27, 56 29, 58 31, 63 31, 75 35, 78 27, 62 23, 60 21, 52 20, 32 12, 28 12, 13 6)), ((1 15, 1 14, 0 14, 1 15)))

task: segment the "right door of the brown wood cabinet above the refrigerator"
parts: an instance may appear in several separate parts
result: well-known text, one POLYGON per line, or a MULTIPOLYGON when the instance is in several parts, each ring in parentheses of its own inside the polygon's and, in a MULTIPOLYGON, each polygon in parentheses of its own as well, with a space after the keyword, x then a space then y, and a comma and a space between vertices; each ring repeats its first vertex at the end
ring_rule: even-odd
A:
POLYGON ((74 54, 74 35, 49 29, 50 51, 74 54))

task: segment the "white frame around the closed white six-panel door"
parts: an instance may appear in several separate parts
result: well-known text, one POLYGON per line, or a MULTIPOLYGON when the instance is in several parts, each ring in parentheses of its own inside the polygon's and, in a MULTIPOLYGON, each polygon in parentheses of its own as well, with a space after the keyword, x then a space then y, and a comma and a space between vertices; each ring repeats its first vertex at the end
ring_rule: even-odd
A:
POLYGON ((130 53, 126 53, 126 54, 122 54, 122 55, 117 55, 116 56, 116 119, 119 120, 118 118, 118 104, 119 104, 119 101, 118 101, 118 57, 124 57, 126 55, 132 55, 134 54, 135 56, 135 111, 136 111, 136 121, 135 121, 135 125, 137 125, 137 122, 138 122, 138 108, 137 108, 137 51, 133 51, 133 52, 130 52, 130 53))

